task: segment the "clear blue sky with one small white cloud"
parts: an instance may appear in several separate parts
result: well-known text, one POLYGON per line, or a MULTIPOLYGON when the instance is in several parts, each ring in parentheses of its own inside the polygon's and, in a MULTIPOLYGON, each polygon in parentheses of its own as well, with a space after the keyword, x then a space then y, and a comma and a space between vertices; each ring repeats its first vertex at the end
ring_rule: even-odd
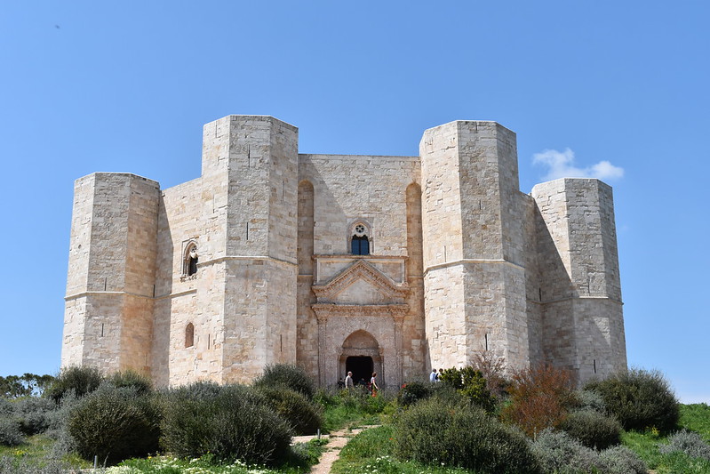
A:
POLYGON ((202 125, 228 114, 379 155, 481 119, 517 133, 524 192, 613 186, 629 364, 710 402, 708 5, 4 2, 0 375, 59 369, 76 178, 196 178, 202 125))

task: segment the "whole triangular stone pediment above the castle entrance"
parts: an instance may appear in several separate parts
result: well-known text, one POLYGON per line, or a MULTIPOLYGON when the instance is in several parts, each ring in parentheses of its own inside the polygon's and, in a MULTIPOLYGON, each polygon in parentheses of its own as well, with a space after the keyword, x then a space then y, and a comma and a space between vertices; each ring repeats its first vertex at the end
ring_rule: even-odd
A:
POLYGON ((314 285, 319 303, 389 304, 402 303, 409 286, 396 284, 379 269, 364 260, 355 261, 323 285, 314 285))

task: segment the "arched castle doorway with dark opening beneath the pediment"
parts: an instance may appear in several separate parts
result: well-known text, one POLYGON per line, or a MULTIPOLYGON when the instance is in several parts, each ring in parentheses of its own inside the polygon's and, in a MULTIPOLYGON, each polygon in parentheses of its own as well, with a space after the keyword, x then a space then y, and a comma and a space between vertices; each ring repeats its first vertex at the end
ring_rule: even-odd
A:
POLYGON ((340 376, 345 378, 348 372, 353 373, 353 382, 357 384, 361 380, 364 383, 370 382, 373 372, 378 373, 378 383, 384 383, 382 373, 382 354, 379 343, 367 331, 355 331, 347 336, 343 341, 339 357, 340 376))

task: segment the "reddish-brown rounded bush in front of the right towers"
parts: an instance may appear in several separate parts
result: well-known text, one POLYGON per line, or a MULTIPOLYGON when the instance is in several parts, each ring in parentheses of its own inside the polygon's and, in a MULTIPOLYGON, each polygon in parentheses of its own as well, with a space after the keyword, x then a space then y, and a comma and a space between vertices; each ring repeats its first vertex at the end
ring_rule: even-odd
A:
POLYGON ((501 415, 531 438, 546 428, 559 426, 576 399, 569 372, 553 366, 536 366, 516 373, 508 391, 510 404, 501 415))

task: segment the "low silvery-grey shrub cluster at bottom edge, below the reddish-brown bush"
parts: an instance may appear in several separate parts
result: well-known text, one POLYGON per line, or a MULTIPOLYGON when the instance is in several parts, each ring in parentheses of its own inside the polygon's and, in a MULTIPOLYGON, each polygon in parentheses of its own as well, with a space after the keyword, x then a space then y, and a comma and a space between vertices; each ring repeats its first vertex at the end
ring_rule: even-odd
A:
POLYGON ((543 430, 531 443, 544 472, 556 474, 646 474, 646 465, 624 446, 614 446, 601 452, 582 446, 564 431, 543 430))

